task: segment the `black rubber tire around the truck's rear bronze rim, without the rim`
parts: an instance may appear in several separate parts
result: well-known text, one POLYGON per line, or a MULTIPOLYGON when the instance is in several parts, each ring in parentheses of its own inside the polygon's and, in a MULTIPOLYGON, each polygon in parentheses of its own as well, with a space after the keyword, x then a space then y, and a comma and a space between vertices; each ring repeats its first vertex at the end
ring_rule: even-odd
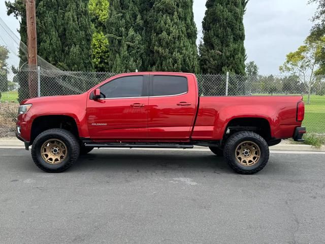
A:
MULTIPOLYGON (((241 131, 233 134, 228 138, 223 148, 223 154, 229 166, 237 173, 255 174, 261 171, 268 163, 270 150, 268 143, 264 140, 263 137, 251 131, 241 131), (240 153, 237 153, 236 149, 241 143, 244 143, 246 141, 253 142, 259 147, 260 158, 253 165, 243 165, 237 161, 237 157, 240 157, 240 153)), ((245 158, 242 158, 241 161, 243 161, 243 159, 245 160, 245 158)))

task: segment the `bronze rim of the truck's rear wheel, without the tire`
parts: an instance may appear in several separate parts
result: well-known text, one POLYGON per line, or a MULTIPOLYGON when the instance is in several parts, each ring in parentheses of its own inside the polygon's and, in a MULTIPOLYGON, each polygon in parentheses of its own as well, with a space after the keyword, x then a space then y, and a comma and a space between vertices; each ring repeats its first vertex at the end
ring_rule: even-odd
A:
POLYGON ((252 141, 244 141, 237 146, 235 157, 241 165, 252 166, 261 158, 261 149, 252 141))

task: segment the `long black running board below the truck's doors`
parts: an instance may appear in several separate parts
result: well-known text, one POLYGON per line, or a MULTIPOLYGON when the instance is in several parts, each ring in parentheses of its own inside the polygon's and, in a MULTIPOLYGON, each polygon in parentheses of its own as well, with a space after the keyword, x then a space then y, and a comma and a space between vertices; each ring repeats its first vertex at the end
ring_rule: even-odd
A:
POLYGON ((193 145, 182 145, 182 144, 129 144, 129 143, 85 143, 85 146, 88 147, 107 147, 107 148, 183 148, 191 149, 193 145))

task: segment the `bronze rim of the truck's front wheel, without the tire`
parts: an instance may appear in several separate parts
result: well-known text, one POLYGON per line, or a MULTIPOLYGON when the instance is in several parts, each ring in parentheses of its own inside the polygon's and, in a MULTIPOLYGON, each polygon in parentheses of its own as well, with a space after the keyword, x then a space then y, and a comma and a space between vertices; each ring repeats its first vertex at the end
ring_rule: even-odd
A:
POLYGON ((50 139, 41 146, 42 159, 48 164, 60 164, 67 155, 67 146, 61 140, 50 139))

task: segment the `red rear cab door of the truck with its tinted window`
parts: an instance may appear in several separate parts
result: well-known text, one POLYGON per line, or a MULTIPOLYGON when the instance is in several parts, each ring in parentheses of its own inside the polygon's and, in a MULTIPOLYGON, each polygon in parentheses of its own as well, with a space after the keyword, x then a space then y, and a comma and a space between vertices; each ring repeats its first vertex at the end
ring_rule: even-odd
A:
POLYGON ((198 106, 193 75, 150 75, 148 134, 153 140, 188 140, 198 106))

